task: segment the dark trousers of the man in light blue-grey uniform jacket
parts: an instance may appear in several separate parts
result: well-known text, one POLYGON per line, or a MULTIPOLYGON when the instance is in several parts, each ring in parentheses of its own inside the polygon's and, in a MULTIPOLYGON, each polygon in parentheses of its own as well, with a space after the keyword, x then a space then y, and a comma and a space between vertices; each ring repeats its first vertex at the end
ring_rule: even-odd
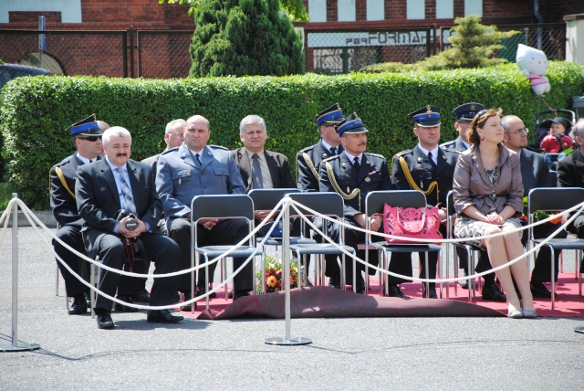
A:
MULTIPOLYGON (((231 245, 239 243, 249 233, 247 222, 243 219, 221 220, 213 229, 205 229, 197 226, 197 244, 203 246, 231 245)), ((170 237, 176 241, 180 248, 179 269, 191 268, 191 220, 186 218, 175 218, 172 220, 169 229, 170 237)), ((203 257, 200 258, 203 262, 203 257)), ((245 258, 234 258, 234 269, 238 269, 245 262, 245 258)), ((235 291, 251 291, 254 287, 254 272, 250 261, 234 278, 235 291)), ((209 281, 213 282, 217 262, 209 265, 209 281)), ((204 269, 199 269, 197 286, 204 291, 205 274, 204 269)), ((191 274, 178 276, 177 287, 179 291, 191 291, 191 274)))

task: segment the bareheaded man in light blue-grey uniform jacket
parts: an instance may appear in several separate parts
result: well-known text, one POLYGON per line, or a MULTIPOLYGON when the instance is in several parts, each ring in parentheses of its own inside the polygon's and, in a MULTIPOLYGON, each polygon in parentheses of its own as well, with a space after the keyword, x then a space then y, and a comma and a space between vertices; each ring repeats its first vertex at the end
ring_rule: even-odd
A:
MULTIPOLYGON (((228 149, 207 145, 211 131, 209 121, 195 115, 186 122, 184 143, 178 148, 166 151, 158 159, 156 190, 162 201, 166 227, 169 236, 181 248, 179 268, 191 268, 191 201, 194 196, 245 194, 245 185, 239 174, 234 158, 228 149)), ((236 244, 248 233, 247 223, 242 219, 204 219, 197 226, 200 246, 236 244)), ((245 261, 234 259, 235 269, 245 261)), ((216 262, 209 266, 209 276, 213 279, 216 262)), ((246 296, 253 289, 252 265, 248 263, 235 276, 235 297, 246 296)), ((208 281, 207 281, 208 282, 208 281)), ((213 280, 211 280, 213 282, 213 280)), ((206 291, 204 272, 199 273, 197 285, 206 291)), ((191 275, 178 277, 177 287, 192 299, 191 275)), ((190 311, 183 306, 183 311, 190 311)))

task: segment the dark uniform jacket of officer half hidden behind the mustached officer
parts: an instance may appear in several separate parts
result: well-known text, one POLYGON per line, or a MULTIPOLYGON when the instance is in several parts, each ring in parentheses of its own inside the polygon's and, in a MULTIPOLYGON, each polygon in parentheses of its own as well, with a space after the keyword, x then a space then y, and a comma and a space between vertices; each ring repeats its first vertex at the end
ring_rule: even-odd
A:
MULTIPOLYGON (((343 146, 339 144, 337 153, 343 152, 343 146)), ((330 157, 330 151, 325 148, 322 140, 311 145, 296 156, 296 171, 298 188, 303 192, 318 192, 318 180, 320 177, 320 163, 330 157)))

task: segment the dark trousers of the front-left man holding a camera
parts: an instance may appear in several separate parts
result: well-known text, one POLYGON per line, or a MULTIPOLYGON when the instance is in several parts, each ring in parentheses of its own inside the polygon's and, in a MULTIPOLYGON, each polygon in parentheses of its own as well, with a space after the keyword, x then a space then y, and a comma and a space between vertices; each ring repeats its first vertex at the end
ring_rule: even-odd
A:
MULTIPOLYGON (((172 273, 178 269, 179 247, 168 237, 158 234, 142 233, 142 243, 148 258, 155 265, 154 274, 172 273)), ((122 269, 126 262, 126 250, 119 235, 105 234, 99 239, 99 259, 114 269, 122 269)), ((120 274, 99 269, 100 291, 113 296, 120 285, 120 274)), ((120 290, 122 291, 122 290, 120 290)), ((151 291, 151 305, 167 305, 178 301, 176 278, 154 279, 151 291)), ((98 295, 96 310, 111 310, 111 302, 98 295)))

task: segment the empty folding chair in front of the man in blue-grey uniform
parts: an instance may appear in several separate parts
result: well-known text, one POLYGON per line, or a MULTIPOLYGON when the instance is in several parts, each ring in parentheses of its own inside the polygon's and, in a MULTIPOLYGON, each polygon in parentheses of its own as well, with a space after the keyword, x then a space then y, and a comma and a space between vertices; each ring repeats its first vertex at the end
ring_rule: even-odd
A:
MULTIPOLYGON (((214 259, 222 255, 226 250, 235 248, 229 253, 229 257, 250 257, 255 253, 255 256, 262 256, 263 251, 255 248, 254 238, 249 238, 247 246, 235 247, 235 245, 224 246, 203 246, 199 247, 197 242, 196 225, 202 218, 220 218, 220 219, 245 219, 249 227, 249 232, 254 229, 254 202, 246 195, 225 195, 225 196, 195 196, 191 202, 191 267, 194 267, 195 258, 197 266, 199 262, 199 254, 203 254, 205 268, 205 293, 209 291, 209 259, 214 259), (196 255, 196 257, 195 257, 196 255)), ((224 259, 222 259, 224 261, 224 259)), ((255 260, 252 261, 252 269, 254 275, 254 293, 255 294, 255 260)), ((199 270, 197 270, 198 275, 199 270)), ((194 272, 191 273, 191 286, 193 292, 195 291, 194 272)), ((225 299, 227 298, 227 285, 224 286, 225 299)), ((235 296, 235 294, 234 294, 235 296)), ((205 298, 206 308, 209 309, 209 296, 205 298)), ((192 306, 194 312, 194 306, 192 306)))

